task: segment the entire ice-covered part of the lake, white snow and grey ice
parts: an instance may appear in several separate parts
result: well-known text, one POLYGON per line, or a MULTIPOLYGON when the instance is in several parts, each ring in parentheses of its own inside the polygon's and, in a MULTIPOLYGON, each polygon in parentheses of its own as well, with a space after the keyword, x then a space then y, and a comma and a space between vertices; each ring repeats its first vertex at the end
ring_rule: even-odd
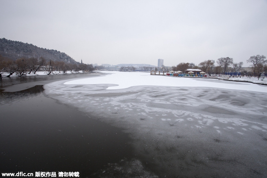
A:
POLYGON ((267 177, 267 86, 110 72, 45 85, 48 96, 123 128, 160 177, 267 177))

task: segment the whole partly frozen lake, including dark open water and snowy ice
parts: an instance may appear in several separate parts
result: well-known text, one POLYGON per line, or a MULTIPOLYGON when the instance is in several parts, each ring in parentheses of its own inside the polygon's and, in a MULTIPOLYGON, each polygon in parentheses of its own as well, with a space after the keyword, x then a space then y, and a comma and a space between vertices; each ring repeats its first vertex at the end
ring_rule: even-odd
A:
POLYGON ((0 92, 1 171, 267 176, 266 85, 101 73, 13 78, 0 92))

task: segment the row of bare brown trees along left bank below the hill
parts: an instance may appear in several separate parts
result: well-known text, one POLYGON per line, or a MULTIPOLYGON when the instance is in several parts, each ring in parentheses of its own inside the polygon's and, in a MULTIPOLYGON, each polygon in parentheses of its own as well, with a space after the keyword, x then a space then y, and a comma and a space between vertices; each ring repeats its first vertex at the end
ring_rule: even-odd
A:
MULTIPOLYGON (((19 58, 12 60, 0 55, 0 77, 4 72, 9 73, 7 77, 16 73, 18 76, 34 74, 36 71, 93 71, 92 64, 68 63, 63 61, 51 61, 43 57, 40 58, 19 58)), ((50 74, 50 73, 49 73, 50 74)))

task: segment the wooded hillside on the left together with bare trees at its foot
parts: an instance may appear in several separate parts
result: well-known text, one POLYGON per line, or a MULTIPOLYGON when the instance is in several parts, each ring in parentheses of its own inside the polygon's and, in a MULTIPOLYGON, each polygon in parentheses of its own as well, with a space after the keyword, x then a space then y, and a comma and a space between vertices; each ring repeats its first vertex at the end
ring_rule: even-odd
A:
POLYGON ((74 61, 69 55, 57 50, 48 50, 32 44, 0 39, 0 77, 8 73, 17 76, 34 74, 36 71, 93 71, 92 64, 74 61))

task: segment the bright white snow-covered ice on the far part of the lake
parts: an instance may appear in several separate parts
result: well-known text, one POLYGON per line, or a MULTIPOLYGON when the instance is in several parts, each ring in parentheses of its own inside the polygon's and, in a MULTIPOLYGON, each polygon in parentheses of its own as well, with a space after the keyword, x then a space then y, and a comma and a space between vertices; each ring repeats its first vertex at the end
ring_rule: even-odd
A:
POLYGON ((116 84, 107 89, 122 89, 131 86, 154 85, 154 86, 173 86, 173 87, 212 87, 230 90, 246 90, 267 92, 267 86, 252 83, 222 81, 218 79, 185 78, 150 75, 149 72, 119 72, 101 71, 106 76, 101 78, 87 78, 65 82, 65 85, 78 84, 116 84))

